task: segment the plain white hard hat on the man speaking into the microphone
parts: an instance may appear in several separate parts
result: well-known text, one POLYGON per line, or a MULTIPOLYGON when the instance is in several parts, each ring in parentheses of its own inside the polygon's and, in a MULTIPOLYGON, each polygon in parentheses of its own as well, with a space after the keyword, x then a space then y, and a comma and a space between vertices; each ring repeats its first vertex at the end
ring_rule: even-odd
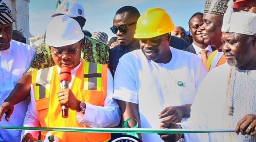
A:
POLYGON ((67 15, 54 17, 46 28, 45 43, 53 47, 75 44, 84 35, 80 25, 67 15))

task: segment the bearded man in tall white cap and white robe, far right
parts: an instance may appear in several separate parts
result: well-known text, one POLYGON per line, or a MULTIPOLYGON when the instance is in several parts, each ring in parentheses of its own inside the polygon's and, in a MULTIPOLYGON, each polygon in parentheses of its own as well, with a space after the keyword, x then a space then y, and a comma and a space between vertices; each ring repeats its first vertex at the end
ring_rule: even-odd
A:
MULTIPOLYGON (((233 12, 228 2, 222 26, 227 63, 209 72, 182 128, 235 129, 235 133, 184 134, 186 142, 255 142, 256 14, 233 12), (241 134, 239 134, 241 133, 241 134)), ((164 127, 181 128, 174 123, 164 127)), ((175 137, 173 136, 173 142, 175 137)))

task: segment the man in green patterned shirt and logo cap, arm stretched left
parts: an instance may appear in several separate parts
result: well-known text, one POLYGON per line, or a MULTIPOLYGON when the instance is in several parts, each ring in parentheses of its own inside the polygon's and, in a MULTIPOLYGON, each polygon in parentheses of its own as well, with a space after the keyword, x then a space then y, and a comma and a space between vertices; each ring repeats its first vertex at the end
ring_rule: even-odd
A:
MULTIPOLYGON (((77 3, 74 0, 64 0, 51 17, 57 17, 60 15, 68 15, 72 19, 75 19, 80 25, 80 30, 85 25, 84 10, 81 4, 77 3)), ((71 30, 69 28, 68 30, 71 30)), ((82 31, 82 30, 81 30, 82 31)), ((95 39, 92 39, 89 36, 83 37, 83 45, 81 49, 80 58, 83 61, 108 64, 109 62, 109 47, 95 39)), ((7 118, 9 119, 12 112, 13 106, 30 95, 30 84, 32 71, 35 69, 43 69, 54 66, 52 55, 50 54, 50 47, 48 44, 42 44, 38 48, 35 58, 33 59, 29 70, 21 77, 17 85, 15 85, 13 91, 5 99, 4 103, 0 106, 0 115, 3 113, 8 114, 7 118)), ((1 118, 0 118, 1 121, 1 118)))

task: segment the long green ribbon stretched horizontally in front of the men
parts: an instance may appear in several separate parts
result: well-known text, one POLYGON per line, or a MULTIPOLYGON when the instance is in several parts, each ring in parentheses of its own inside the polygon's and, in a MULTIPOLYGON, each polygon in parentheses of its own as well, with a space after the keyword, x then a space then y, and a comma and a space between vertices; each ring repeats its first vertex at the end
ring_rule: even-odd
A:
POLYGON ((235 132, 234 129, 153 129, 153 128, 73 128, 73 127, 0 127, 8 130, 58 131, 58 132, 86 132, 86 133, 141 133, 141 134, 183 134, 183 133, 211 133, 235 132))

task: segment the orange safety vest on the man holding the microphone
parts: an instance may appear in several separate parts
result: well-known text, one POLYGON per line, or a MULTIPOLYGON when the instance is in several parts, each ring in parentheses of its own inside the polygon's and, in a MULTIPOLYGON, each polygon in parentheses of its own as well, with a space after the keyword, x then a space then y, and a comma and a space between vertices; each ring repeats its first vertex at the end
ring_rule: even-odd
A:
MULTIPOLYGON (((107 65, 81 61, 74 77, 71 91, 79 101, 103 106, 107 94, 107 65)), ((32 73, 36 110, 41 127, 89 127, 77 122, 77 112, 68 110, 68 118, 62 117, 57 93, 61 90, 57 66, 34 70, 32 73)), ((85 114, 90 115, 90 114, 85 114)), ((41 132, 45 139, 47 132, 41 132)), ((110 133, 53 132, 60 142, 103 142, 110 139, 110 133)))

